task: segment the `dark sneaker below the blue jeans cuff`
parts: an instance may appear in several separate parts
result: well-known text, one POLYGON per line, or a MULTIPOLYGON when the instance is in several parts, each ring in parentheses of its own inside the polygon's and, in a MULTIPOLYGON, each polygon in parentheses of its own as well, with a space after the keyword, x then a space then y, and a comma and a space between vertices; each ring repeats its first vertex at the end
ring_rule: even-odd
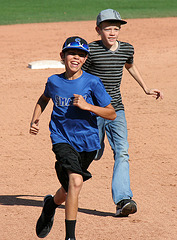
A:
POLYGON ((131 199, 123 199, 118 202, 116 207, 116 217, 128 217, 129 214, 136 213, 136 202, 131 199))

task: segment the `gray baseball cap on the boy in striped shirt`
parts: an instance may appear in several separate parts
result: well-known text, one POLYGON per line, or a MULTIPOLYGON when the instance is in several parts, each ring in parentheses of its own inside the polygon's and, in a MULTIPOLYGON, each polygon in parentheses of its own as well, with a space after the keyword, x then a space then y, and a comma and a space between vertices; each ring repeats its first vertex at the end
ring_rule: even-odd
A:
POLYGON ((97 26, 103 21, 118 21, 120 24, 126 24, 127 22, 121 19, 119 12, 113 9, 102 10, 97 16, 97 26))

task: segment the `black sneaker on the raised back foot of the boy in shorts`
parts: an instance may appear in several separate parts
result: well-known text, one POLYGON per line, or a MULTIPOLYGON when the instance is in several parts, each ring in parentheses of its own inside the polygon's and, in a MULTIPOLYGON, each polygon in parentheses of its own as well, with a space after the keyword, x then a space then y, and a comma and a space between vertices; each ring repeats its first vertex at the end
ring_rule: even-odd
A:
POLYGON ((55 212, 51 216, 48 216, 44 213, 44 205, 51 198, 53 198, 52 195, 45 196, 42 213, 36 224, 36 234, 39 238, 45 238, 52 229, 55 212))

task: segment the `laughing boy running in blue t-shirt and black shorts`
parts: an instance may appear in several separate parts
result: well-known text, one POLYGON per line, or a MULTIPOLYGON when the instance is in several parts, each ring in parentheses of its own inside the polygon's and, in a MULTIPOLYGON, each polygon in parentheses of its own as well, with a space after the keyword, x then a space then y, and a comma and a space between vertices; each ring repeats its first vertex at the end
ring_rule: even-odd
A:
POLYGON ((77 36, 66 39, 60 53, 66 71, 48 78, 31 120, 30 133, 36 135, 39 117, 51 98, 53 111, 49 129, 57 160, 55 169, 62 186, 54 196, 44 198, 36 225, 39 238, 48 235, 55 209, 65 202, 65 239, 76 239, 78 196, 83 181, 91 178, 87 169, 100 149, 96 116, 110 120, 116 118, 111 97, 101 80, 81 69, 88 54, 89 47, 84 39, 77 36))

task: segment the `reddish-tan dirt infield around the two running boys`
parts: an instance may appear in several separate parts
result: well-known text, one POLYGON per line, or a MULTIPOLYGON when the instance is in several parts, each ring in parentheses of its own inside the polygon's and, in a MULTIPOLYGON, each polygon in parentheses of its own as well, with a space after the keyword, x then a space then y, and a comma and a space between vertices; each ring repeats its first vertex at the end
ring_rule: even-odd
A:
MULTIPOLYGON (((0 26, 0 221, 2 240, 34 240, 43 196, 59 183, 54 170, 48 122, 52 104, 41 116, 40 133, 29 123, 47 77, 61 69, 32 70, 29 62, 59 60, 66 37, 98 38, 95 21, 0 26)), ((135 47, 135 64, 149 87, 164 92, 156 101, 124 72, 123 102, 129 131, 131 188, 138 212, 115 218, 111 197, 113 156, 106 141, 93 178, 80 195, 77 240, 175 240, 177 236, 177 18, 134 19, 120 40, 135 47)), ((64 205, 57 209, 46 239, 64 239, 64 205)))

